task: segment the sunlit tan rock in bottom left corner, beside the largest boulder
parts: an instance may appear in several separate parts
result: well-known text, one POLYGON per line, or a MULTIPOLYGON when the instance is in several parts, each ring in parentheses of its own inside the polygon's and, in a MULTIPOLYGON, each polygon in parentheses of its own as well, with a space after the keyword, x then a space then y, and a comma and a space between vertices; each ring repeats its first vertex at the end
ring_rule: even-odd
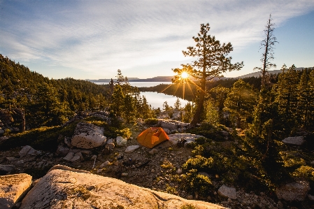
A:
POLYGON ((26 173, 0 176, 0 208, 12 208, 31 186, 31 175, 26 173))

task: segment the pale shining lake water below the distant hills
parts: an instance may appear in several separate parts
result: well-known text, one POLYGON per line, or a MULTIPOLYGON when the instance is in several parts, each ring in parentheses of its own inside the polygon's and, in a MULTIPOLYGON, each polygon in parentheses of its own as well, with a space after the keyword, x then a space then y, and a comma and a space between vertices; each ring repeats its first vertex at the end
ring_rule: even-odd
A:
MULTIPOLYGON (((106 82, 95 82, 95 84, 108 84, 106 82)), ((159 84, 171 84, 171 82, 129 82, 129 84, 133 87, 155 87, 159 84)), ((152 106, 152 108, 160 108, 162 109, 162 105, 165 101, 167 101, 169 106, 173 106, 176 103, 177 97, 170 96, 157 92, 141 92, 141 95, 145 96, 148 103, 152 106)), ((189 101, 185 99, 180 99, 181 107, 184 107, 189 101)))

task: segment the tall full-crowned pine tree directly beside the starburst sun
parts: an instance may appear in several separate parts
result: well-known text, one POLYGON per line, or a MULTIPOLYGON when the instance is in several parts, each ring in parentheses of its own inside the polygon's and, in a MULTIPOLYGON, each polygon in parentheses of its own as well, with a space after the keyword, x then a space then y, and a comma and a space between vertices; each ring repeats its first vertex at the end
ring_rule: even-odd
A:
MULTIPOLYGON (((240 70, 243 66, 243 62, 231 64, 232 58, 227 57, 229 52, 233 50, 231 43, 221 44, 220 41, 216 40, 215 36, 208 35, 209 30, 209 24, 201 24, 197 37, 192 37, 196 42, 196 46, 190 46, 187 48, 187 51, 183 51, 185 57, 197 57, 197 60, 192 62, 193 70, 187 72, 192 78, 199 81, 200 89, 197 110, 194 113, 192 125, 201 122, 201 115, 204 113, 206 80, 220 78, 222 73, 240 70)), ((189 69, 188 66, 184 66, 184 68, 189 69)), ((180 69, 174 69, 173 71, 183 72, 180 69)))

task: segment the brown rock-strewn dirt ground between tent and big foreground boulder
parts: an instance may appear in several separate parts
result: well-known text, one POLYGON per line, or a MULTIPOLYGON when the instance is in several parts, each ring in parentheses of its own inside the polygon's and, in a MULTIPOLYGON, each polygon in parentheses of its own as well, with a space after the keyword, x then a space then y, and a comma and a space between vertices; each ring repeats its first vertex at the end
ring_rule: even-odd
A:
MULTIPOLYGON (((173 127, 178 128, 173 121, 166 125, 168 127, 164 129, 168 128, 167 132, 172 132, 173 127)), ((107 140, 106 145, 82 149, 69 146, 69 141, 65 138, 57 152, 43 152, 29 146, 3 151, 0 152, 0 175, 28 173, 36 181, 52 166, 62 164, 97 175, 117 178, 139 187, 176 194, 185 199, 208 201, 227 208, 297 208, 300 206, 299 203, 280 201, 276 196, 270 197, 263 192, 255 194, 241 188, 233 188, 232 185, 227 187, 215 176, 208 176, 215 186, 210 196, 188 193, 183 187, 185 174, 181 166, 191 157, 192 150, 171 141, 166 141, 154 149, 143 147, 138 144, 136 136, 145 128, 138 129, 138 132, 133 133, 133 137, 128 138, 125 145, 120 146, 117 146, 117 139, 113 139, 107 140), (129 148, 134 149, 129 150, 129 148)), ((183 129, 183 126, 181 128, 183 129)), ((1 138, 1 140, 9 139, 1 138)), ((311 203, 306 203, 306 207, 302 208, 308 208, 309 205, 311 203)))

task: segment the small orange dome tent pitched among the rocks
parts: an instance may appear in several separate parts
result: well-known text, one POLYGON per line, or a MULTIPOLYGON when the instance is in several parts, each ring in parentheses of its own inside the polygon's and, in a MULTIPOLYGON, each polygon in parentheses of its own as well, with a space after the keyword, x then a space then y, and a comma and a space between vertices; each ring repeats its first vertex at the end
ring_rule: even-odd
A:
POLYGON ((155 147, 164 140, 169 140, 169 136, 161 127, 150 127, 137 137, 138 143, 148 148, 155 147))

